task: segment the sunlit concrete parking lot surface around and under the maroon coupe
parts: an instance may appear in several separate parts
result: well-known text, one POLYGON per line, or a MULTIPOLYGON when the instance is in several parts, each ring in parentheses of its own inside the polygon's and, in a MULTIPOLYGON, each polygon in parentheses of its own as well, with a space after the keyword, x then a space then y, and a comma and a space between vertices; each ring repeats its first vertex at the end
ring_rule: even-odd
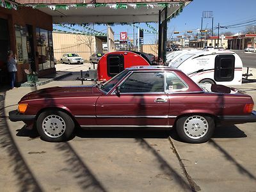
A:
MULTIPOLYGON (((217 127, 202 144, 182 143, 175 130, 76 131, 68 142, 47 143, 8 120, 26 93, 80 85, 74 80, 88 67, 58 64, 73 75, 1 92, 1 191, 256 191, 255 123, 217 127)), ((256 83, 236 88, 256 102, 256 83)))

